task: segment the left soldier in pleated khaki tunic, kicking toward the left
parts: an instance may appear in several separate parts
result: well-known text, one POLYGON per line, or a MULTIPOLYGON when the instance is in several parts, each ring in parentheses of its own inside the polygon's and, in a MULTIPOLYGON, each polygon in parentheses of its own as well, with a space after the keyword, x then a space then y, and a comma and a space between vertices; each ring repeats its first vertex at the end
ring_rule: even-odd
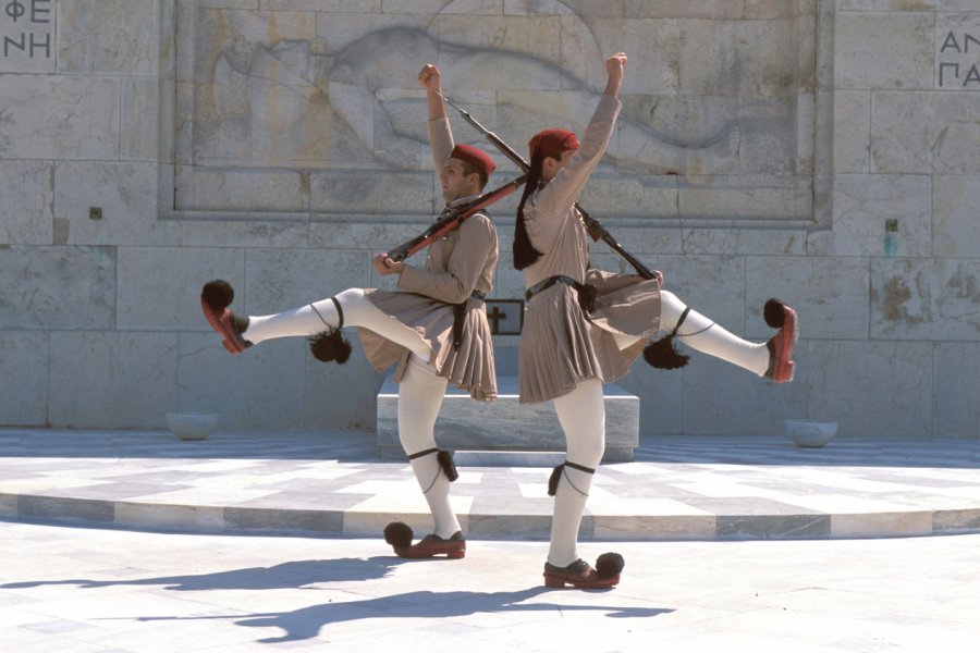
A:
MULTIPOLYGON (((418 81, 426 89, 429 143, 449 212, 479 195, 495 164, 478 148, 454 145, 439 70, 426 65, 418 81)), ((385 539, 403 557, 466 554, 450 505, 455 468, 449 453, 436 446, 433 429, 449 383, 476 401, 497 397, 483 301, 497 259, 497 230, 486 212, 477 212, 432 243, 424 268, 377 255, 375 269, 381 275, 397 275, 397 291, 350 288, 294 310, 252 317, 229 310, 234 293, 226 282, 209 282, 201 292, 205 316, 232 354, 270 338, 307 336, 318 358, 343 362, 351 352, 340 334, 346 325, 357 328, 365 354, 378 371, 397 365, 399 438, 434 520, 433 532, 416 544, 406 525, 385 528, 385 539)))

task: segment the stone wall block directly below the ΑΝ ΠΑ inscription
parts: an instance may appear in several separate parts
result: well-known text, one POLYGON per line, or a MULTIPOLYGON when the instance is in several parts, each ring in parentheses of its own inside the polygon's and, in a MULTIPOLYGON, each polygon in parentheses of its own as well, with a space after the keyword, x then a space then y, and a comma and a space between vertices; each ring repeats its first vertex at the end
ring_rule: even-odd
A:
POLYGON ((871 97, 871 171, 980 173, 980 93, 871 97))

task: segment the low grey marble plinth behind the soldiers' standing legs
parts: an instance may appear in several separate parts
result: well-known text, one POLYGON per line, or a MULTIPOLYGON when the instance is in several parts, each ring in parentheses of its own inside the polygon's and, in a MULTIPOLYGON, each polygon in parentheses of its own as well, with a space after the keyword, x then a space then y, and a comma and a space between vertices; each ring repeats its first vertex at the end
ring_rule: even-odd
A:
MULTIPOLYGON (((520 404, 517 377, 497 378, 495 402, 474 402, 455 387, 446 391, 436 421, 441 448, 479 452, 564 452, 565 436, 551 402, 520 404)), ((608 383, 605 463, 628 463, 639 445, 639 397, 608 383)), ((382 458, 404 458, 397 431, 399 386, 388 377, 378 392, 378 446, 382 458)))

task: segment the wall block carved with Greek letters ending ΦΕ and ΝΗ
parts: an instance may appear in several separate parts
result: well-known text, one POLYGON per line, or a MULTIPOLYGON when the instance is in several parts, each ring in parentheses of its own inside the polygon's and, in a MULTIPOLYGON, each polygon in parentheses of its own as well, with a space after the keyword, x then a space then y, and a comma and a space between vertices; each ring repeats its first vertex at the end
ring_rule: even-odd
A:
POLYGON ((53 0, 0 0, 0 71, 54 65, 53 0))

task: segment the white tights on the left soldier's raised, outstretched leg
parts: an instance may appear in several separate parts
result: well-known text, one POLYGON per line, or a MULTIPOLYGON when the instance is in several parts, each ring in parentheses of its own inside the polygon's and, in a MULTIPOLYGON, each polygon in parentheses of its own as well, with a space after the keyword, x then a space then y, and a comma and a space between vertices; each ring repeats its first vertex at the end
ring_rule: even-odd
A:
MULTIPOLYGON (((431 347, 396 319, 384 315, 371 304, 363 288, 350 288, 336 296, 344 311, 344 326, 364 326, 378 335, 402 345, 409 352, 429 359, 431 347)), ((274 337, 309 336, 327 326, 338 326, 340 316, 333 299, 320 299, 274 316, 249 316, 248 329, 242 337, 254 343, 274 337)))

